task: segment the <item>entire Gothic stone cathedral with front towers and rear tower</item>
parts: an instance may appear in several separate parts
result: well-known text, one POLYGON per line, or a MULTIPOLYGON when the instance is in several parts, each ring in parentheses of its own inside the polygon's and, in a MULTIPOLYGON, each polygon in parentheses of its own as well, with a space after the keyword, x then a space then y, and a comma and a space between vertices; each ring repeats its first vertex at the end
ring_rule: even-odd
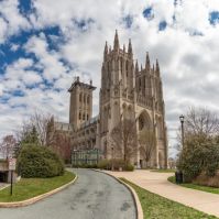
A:
MULTIPOLYGON (((70 134, 72 150, 98 149, 101 158, 111 158, 110 133, 119 121, 127 118, 134 121, 136 136, 144 128, 153 130, 155 144, 150 166, 167 167, 165 107, 158 61, 151 65, 146 53, 145 65, 139 67, 138 61, 133 58, 131 40, 128 48, 125 45, 121 48, 116 31, 113 47, 107 43, 105 45, 99 114, 92 117, 95 89, 91 80, 84 83, 77 77, 68 89, 69 123, 54 122, 54 129, 70 134)), ((117 154, 117 150, 113 153, 117 154)), ((145 167, 139 146, 131 162, 135 167, 145 167)))

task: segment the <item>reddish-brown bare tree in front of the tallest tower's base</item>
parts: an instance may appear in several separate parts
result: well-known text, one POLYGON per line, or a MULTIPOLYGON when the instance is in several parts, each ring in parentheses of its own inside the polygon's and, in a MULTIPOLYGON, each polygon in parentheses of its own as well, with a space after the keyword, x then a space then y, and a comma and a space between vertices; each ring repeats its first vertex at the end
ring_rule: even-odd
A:
POLYGON ((121 120, 110 133, 110 142, 114 150, 123 155, 123 161, 128 163, 133 153, 136 152, 136 128, 135 122, 130 119, 121 120))

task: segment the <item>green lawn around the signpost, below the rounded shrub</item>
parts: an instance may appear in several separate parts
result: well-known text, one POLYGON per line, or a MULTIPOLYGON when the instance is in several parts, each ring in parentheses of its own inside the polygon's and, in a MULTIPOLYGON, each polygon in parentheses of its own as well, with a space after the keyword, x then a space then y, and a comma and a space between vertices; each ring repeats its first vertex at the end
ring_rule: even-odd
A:
POLYGON ((20 201, 53 190, 75 178, 75 174, 65 172, 63 176, 51 178, 21 178, 13 185, 13 195, 10 196, 10 187, 0 190, 0 202, 20 201))

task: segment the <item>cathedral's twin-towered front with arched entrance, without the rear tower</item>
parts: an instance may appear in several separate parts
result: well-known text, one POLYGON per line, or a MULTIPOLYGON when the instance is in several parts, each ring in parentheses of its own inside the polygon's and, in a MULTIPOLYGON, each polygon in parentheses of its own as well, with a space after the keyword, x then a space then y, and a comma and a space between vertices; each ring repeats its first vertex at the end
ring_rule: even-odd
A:
MULTIPOLYGON (((151 67, 146 53, 145 67, 134 64, 131 40, 128 51, 120 48, 116 31, 113 48, 106 43, 101 67, 99 145, 106 158, 111 157, 110 132, 121 119, 136 121, 136 134, 143 128, 154 130, 156 145, 150 166, 167 166, 167 139, 160 66, 151 67)), ((144 166, 140 151, 134 163, 144 166)))

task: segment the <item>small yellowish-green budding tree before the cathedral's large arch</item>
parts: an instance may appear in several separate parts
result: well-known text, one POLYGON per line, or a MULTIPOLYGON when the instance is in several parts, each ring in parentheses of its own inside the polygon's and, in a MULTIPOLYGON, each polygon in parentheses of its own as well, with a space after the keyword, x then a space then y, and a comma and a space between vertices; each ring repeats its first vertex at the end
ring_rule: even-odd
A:
POLYGON ((143 155, 146 167, 155 149, 156 138, 152 129, 143 129, 139 134, 140 152, 143 155))

